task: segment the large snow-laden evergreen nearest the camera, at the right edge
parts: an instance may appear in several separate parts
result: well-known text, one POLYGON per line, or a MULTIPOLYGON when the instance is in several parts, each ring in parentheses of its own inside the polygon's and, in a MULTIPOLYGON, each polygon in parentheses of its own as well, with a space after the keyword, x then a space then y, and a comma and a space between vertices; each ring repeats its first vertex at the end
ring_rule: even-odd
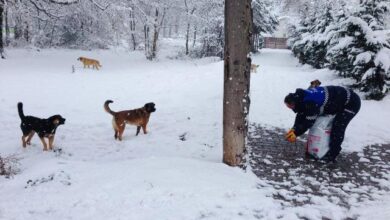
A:
POLYGON ((339 21, 328 51, 330 67, 357 80, 367 98, 376 100, 389 91, 386 82, 390 70, 385 54, 390 45, 383 34, 387 3, 387 0, 361 0, 356 12, 339 21))

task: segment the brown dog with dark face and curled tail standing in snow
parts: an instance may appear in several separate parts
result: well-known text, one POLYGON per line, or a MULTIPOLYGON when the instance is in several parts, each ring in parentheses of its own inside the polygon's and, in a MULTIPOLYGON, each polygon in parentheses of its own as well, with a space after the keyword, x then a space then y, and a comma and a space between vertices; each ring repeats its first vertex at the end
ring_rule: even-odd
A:
POLYGON ((114 138, 122 140, 123 132, 125 131, 126 124, 131 124, 137 126, 137 133, 139 134, 139 131, 142 130, 144 134, 147 133, 146 131, 146 125, 149 122, 149 117, 152 112, 156 111, 156 108, 154 107, 155 104, 153 102, 146 103, 144 107, 137 108, 133 110, 125 110, 120 112, 114 112, 110 109, 108 106, 110 103, 113 103, 111 100, 107 100, 104 103, 104 109, 106 112, 110 113, 112 118, 112 127, 114 128, 115 134, 114 138))

